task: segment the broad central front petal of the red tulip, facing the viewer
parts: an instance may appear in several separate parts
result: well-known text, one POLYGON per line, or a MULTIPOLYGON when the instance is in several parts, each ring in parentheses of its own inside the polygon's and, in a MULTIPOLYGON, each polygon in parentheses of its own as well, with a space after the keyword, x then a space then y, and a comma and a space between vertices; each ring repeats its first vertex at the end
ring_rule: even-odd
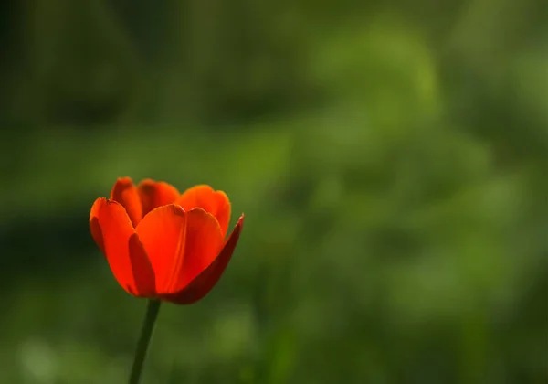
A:
POLYGON ((153 264, 158 294, 183 289, 223 245, 216 219, 200 208, 189 212, 174 204, 155 208, 136 231, 153 264))

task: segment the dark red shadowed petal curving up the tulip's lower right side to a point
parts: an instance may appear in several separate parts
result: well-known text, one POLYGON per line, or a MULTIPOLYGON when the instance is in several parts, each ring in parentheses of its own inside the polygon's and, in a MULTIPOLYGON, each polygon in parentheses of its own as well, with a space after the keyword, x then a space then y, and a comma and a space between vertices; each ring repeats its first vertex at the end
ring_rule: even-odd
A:
POLYGON ((230 234, 225 247, 205 270, 201 272, 195 279, 186 285, 183 290, 178 293, 163 295, 163 299, 174 304, 193 304, 202 299, 216 285, 219 278, 225 272, 228 261, 232 257, 232 253, 239 240, 239 235, 244 225, 244 215, 237 220, 236 227, 230 234))

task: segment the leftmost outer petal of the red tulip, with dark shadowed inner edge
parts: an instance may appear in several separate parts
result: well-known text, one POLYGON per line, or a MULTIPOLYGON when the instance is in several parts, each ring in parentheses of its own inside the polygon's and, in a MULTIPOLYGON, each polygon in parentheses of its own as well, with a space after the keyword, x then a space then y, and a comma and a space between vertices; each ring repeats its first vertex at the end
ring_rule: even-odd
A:
POLYGON ((132 222, 120 203, 100 198, 96 214, 103 251, 114 277, 128 293, 150 297, 154 294, 153 268, 142 244, 134 235, 132 222))

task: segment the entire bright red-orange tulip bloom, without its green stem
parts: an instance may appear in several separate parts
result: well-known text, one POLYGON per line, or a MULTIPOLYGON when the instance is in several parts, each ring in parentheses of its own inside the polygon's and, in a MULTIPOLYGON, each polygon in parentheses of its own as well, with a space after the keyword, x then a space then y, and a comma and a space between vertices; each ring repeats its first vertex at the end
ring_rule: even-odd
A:
POLYGON ((90 231, 114 277, 134 296, 192 304, 209 293, 232 256, 244 215, 225 240, 230 201, 196 186, 119 178, 90 211, 90 231))

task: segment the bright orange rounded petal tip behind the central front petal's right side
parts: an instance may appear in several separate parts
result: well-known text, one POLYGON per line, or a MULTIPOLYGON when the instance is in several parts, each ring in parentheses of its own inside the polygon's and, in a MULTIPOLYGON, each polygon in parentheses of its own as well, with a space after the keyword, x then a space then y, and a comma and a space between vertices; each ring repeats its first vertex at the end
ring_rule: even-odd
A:
POLYGON ((230 200, 223 191, 216 191, 212 187, 201 185, 189 188, 183 195, 175 200, 188 211, 192 208, 202 208, 216 217, 223 238, 227 235, 228 223, 230 221, 230 200))

